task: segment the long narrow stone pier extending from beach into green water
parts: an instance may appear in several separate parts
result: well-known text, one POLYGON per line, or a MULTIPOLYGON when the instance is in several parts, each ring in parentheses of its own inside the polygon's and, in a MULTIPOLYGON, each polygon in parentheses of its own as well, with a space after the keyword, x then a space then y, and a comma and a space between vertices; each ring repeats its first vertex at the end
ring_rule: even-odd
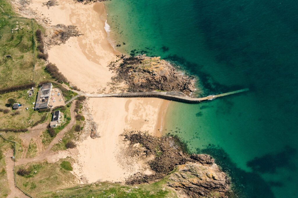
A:
POLYGON ((241 92, 247 92, 249 91, 248 88, 246 89, 240 89, 237 91, 233 92, 227 92, 227 93, 222 93, 218 95, 210 95, 207 97, 203 98, 192 98, 189 97, 188 95, 185 95, 182 92, 136 92, 136 93, 110 93, 110 94, 87 94, 79 91, 75 91, 80 95, 84 95, 86 97, 90 98, 105 98, 105 97, 117 97, 117 98, 162 98, 166 100, 173 100, 173 101, 178 101, 178 102, 185 102, 185 103, 198 103, 204 100, 212 100, 214 98, 226 96, 226 95, 232 95, 236 93, 241 93, 241 92))

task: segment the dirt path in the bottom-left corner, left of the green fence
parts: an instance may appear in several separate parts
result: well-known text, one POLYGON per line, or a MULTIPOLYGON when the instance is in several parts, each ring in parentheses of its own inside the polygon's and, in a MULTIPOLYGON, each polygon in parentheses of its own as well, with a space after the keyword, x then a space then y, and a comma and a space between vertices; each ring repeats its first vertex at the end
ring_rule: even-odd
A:
POLYGON ((9 188, 11 191, 7 198, 13 198, 13 197, 27 198, 27 196, 22 191, 20 191, 17 187, 15 187, 15 182, 13 177, 13 161, 10 158, 11 156, 13 156, 13 150, 7 151, 4 155, 5 155, 7 179, 8 179, 9 188))

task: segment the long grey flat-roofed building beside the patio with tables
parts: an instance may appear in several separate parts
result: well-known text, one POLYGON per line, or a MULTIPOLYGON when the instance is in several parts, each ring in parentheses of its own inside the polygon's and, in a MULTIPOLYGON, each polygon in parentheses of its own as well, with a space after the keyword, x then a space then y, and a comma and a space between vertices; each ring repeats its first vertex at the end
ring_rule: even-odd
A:
POLYGON ((52 91, 52 83, 43 84, 41 88, 39 88, 37 99, 35 103, 35 110, 46 109, 48 108, 49 97, 52 91))

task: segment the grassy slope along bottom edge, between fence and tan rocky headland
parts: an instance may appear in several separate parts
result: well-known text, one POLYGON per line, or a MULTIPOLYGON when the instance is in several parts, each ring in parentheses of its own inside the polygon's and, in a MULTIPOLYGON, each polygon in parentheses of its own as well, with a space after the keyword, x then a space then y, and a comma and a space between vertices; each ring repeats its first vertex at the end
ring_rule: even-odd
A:
POLYGON ((176 193, 164 184, 167 178, 137 186, 120 183, 93 183, 80 185, 71 174, 72 159, 60 159, 56 163, 34 163, 16 167, 29 170, 25 176, 16 175, 18 186, 33 197, 139 197, 162 198, 177 197, 176 193), (36 173, 35 173, 36 171, 36 173))

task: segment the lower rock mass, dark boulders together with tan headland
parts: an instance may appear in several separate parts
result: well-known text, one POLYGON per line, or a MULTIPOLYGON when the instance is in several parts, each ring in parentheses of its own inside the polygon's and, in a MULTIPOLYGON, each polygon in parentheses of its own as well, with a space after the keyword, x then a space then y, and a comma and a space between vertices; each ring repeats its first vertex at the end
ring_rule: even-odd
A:
MULTIPOLYGON (((167 178, 167 186, 186 194, 187 197, 225 197, 229 192, 229 180, 214 163, 214 159, 205 154, 188 155, 183 152, 183 144, 171 136, 161 138, 139 131, 125 134, 129 141, 129 150, 144 158, 154 156, 148 161, 152 175, 135 174, 126 180, 126 184, 152 183, 167 178), (135 145, 142 147, 138 148, 135 145), (142 154, 144 153, 144 154, 142 154)), ((229 192, 230 193, 230 192, 229 192)))

